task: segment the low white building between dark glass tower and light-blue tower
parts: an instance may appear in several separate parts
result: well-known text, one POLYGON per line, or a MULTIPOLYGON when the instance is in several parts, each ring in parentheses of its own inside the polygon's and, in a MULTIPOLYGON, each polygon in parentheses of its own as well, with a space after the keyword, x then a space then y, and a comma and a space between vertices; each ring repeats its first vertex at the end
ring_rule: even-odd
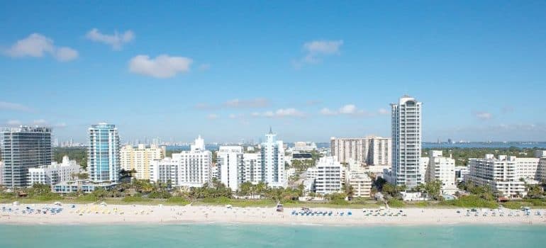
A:
POLYGON ((59 184, 63 181, 74 179, 74 175, 79 173, 79 164, 76 160, 70 160, 67 156, 62 157, 62 163, 52 162, 49 165, 43 165, 36 168, 29 168, 29 186, 34 184, 59 184))

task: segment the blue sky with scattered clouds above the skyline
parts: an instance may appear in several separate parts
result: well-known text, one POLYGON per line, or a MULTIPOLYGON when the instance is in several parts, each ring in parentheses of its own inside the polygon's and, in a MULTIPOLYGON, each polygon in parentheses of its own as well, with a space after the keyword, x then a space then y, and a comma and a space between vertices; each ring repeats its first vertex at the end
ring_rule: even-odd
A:
POLYGON ((3 1, 0 126, 86 140, 546 140, 546 1, 3 1))

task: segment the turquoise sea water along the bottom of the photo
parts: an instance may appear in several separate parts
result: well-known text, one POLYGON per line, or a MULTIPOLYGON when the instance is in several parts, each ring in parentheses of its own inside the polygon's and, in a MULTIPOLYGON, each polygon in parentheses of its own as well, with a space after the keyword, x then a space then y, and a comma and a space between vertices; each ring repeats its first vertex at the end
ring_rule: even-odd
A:
POLYGON ((545 247, 545 226, 0 225, 0 247, 545 247))

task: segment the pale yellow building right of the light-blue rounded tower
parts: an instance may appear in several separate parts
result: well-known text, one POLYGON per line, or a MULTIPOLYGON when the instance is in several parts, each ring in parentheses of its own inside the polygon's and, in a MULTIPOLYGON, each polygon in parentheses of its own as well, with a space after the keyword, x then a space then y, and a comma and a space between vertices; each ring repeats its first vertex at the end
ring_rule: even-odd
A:
POLYGON ((139 144, 138 147, 126 145, 120 150, 121 169, 126 171, 135 169, 136 179, 150 179, 150 161, 165 157, 163 151, 157 145, 150 145, 150 147, 144 144, 139 144))

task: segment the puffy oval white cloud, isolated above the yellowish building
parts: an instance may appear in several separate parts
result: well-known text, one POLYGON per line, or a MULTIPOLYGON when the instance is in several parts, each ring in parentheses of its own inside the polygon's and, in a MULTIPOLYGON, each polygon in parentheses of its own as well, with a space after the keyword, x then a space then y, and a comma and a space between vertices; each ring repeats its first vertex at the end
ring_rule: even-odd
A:
POLYGON ((147 55, 137 55, 129 61, 129 70, 136 74, 165 79, 179 73, 189 72, 192 60, 187 57, 159 55, 150 59, 147 55))

